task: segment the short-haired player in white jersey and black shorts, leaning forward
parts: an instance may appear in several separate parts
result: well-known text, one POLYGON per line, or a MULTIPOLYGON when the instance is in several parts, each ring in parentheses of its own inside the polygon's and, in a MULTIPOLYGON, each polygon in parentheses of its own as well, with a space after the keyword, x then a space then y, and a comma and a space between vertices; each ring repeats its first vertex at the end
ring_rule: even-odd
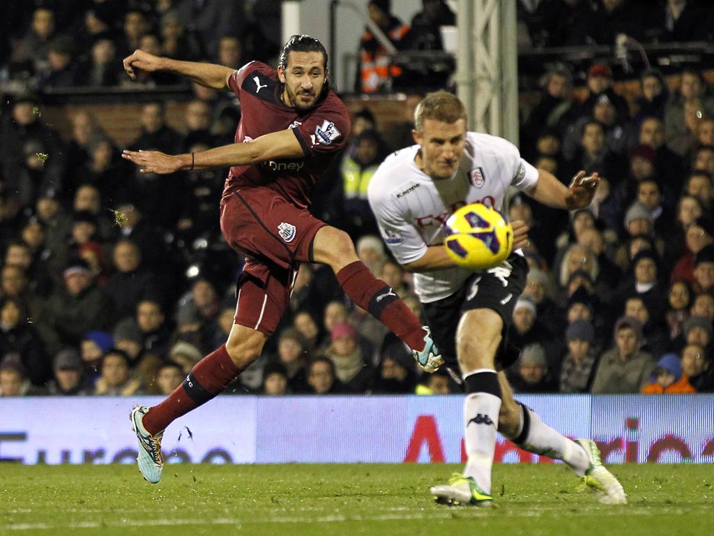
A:
MULTIPOLYGON (((414 273, 414 287, 444 363, 460 371, 466 400, 463 429, 468 456, 463 475, 431 488, 438 502, 491 505, 491 466, 496 431, 519 447, 563 460, 598 494, 623 504, 620 482, 603 466, 595 442, 572 441, 513 399, 506 375, 518 352, 506 339, 528 264, 520 247, 523 222, 512 222, 514 253, 493 269, 457 267, 441 245, 446 219, 465 204, 501 210, 508 187, 550 207, 587 207, 598 176, 578 173, 570 187, 535 169, 505 139, 466 131, 466 109, 446 91, 431 93, 414 112, 416 145, 391 154, 372 177, 368 199, 394 257, 414 273), (458 365, 458 367, 457 367, 458 365)), ((555 236, 555 235, 553 235, 555 236)), ((432 372, 438 363, 423 367, 432 372)))

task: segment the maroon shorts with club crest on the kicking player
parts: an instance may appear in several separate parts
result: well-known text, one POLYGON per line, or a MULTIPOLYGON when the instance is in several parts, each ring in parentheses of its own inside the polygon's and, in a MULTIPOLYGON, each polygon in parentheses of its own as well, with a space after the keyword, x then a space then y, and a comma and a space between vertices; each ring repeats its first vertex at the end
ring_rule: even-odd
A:
POLYGON ((221 200, 221 232, 246 255, 238 278, 236 324, 275 331, 288 307, 298 266, 311 262, 324 222, 268 189, 243 189, 221 200))

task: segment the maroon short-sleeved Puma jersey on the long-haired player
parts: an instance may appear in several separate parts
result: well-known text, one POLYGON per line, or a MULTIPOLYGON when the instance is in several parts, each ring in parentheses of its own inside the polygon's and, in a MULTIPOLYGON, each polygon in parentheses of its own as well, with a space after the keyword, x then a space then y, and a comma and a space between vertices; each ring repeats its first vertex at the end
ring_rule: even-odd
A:
POLYGON ((307 111, 286 106, 280 98, 283 85, 277 71, 260 61, 251 61, 234 72, 229 84, 241 101, 236 143, 291 129, 304 156, 231 167, 223 198, 237 190, 267 187, 306 208, 321 174, 345 146, 351 128, 346 106, 333 91, 307 111))

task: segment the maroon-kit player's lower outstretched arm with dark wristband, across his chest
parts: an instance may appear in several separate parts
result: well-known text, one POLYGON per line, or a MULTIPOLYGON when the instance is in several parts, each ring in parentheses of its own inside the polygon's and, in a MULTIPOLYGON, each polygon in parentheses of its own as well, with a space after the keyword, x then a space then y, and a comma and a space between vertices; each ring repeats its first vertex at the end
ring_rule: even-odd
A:
POLYGON ((141 173, 168 174, 215 167, 258 164, 266 160, 300 158, 303 148, 290 129, 271 132, 249 143, 223 145, 208 151, 186 154, 165 154, 158 151, 129 151, 121 157, 134 162, 141 173))

